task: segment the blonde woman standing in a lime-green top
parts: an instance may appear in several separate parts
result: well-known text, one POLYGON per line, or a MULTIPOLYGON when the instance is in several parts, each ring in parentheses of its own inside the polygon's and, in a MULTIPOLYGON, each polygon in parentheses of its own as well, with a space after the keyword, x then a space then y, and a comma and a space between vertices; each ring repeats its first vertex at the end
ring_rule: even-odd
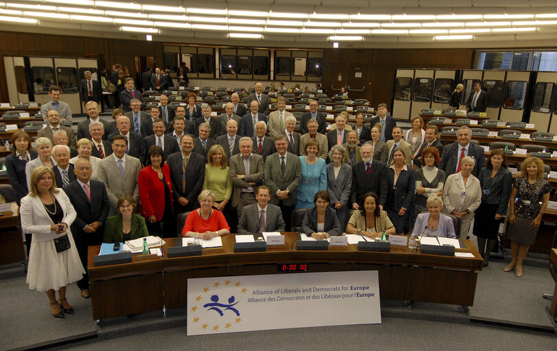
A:
POLYGON ((210 190, 215 194, 213 207, 221 211, 230 225, 231 232, 236 232, 238 215, 231 213, 228 204, 232 196, 232 182, 230 181, 229 167, 227 166, 225 149, 221 145, 213 145, 207 154, 205 165, 205 181, 203 190, 210 190))

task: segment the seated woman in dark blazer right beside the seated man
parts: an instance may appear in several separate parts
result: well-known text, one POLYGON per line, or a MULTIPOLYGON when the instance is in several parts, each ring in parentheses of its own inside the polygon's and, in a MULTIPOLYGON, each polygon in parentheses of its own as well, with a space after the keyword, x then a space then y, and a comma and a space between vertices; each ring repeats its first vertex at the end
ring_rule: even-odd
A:
POLYGON ((308 208, 302 221, 302 232, 315 239, 327 239, 341 234, 341 223, 337 212, 329 207, 329 193, 317 191, 313 202, 315 207, 308 208))

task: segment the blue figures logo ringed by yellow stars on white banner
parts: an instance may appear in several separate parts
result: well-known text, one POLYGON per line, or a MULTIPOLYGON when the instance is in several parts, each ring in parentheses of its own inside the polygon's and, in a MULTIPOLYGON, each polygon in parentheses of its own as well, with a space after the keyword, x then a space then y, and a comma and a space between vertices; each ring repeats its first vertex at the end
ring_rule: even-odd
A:
POLYGON ((234 326, 242 322, 240 305, 242 295, 247 291, 242 282, 216 281, 213 287, 205 287, 195 298, 202 308, 197 305, 190 309, 190 313, 197 313, 192 319, 198 328, 203 330, 232 331, 234 326), (224 302, 224 301, 227 301, 224 302))

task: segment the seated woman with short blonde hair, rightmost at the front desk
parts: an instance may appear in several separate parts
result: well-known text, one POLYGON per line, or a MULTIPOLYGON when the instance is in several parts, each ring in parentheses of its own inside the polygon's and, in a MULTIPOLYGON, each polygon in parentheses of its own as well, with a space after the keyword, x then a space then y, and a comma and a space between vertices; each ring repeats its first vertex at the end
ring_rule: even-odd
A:
POLYGON ((425 234, 428 237, 456 238, 453 219, 443 215, 443 200, 433 194, 427 198, 427 210, 429 213, 420 213, 414 223, 412 234, 425 234))

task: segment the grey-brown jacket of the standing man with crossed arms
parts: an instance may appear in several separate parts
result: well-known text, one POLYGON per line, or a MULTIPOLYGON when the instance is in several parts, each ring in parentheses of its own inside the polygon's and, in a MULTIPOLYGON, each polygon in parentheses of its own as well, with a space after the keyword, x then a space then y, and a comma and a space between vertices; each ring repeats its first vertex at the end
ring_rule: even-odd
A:
POLYGON ((230 158, 229 174, 230 181, 234 188, 232 191, 232 207, 238 206, 238 203, 240 202, 240 193, 242 192, 242 189, 250 186, 249 183, 255 183, 255 185, 253 185, 253 193, 255 195, 255 191, 258 186, 263 184, 263 165, 263 156, 251 154, 251 159, 249 160, 249 173, 246 173, 244 160, 242 160, 242 154, 236 154, 230 158), (236 176, 238 174, 245 175, 246 180, 238 178, 236 176))

